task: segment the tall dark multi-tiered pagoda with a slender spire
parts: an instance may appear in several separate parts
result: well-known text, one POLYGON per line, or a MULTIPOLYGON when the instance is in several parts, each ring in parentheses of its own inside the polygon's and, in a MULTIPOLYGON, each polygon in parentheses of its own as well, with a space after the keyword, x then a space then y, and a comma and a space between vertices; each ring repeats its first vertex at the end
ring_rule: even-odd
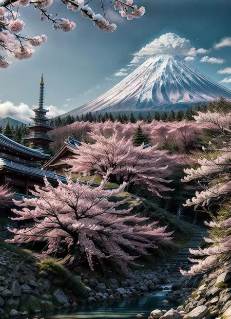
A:
POLYGON ((26 126, 30 130, 30 133, 24 139, 29 142, 30 147, 44 150, 48 148, 50 142, 54 141, 54 138, 47 134, 48 131, 54 129, 54 126, 47 123, 50 119, 46 117, 48 110, 44 109, 43 75, 40 80, 39 107, 33 109, 33 111, 35 112, 35 116, 31 117, 31 119, 34 120, 34 123, 26 126))

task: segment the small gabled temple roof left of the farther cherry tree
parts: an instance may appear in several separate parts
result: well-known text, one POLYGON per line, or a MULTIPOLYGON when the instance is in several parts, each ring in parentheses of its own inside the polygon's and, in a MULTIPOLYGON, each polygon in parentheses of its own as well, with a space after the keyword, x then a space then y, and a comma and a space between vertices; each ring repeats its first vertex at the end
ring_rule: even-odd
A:
MULTIPOLYGON (((51 166, 54 166, 54 163, 57 163, 58 159, 60 160, 58 165, 61 165, 61 156, 65 154, 67 150, 71 152, 75 152, 77 148, 81 146, 81 142, 77 141, 75 138, 68 136, 66 141, 64 142, 63 146, 60 150, 47 162, 43 165, 44 169, 47 169, 51 166)), ((63 164, 65 164, 65 160, 63 161, 63 164)))

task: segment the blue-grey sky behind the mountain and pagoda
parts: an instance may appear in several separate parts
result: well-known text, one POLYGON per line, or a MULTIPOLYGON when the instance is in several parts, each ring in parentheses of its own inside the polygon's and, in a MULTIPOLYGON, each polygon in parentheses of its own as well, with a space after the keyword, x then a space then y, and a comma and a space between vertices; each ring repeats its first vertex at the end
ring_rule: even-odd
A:
MULTIPOLYGON (((98 2, 91 2, 95 12, 100 9, 98 2)), ((221 84, 231 89, 231 69, 227 69, 231 68, 230 0, 135 0, 138 6, 145 6, 146 14, 131 21, 121 18, 108 2, 105 1, 106 17, 117 24, 116 31, 109 34, 99 31, 79 12, 67 10, 59 0, 54 0, 48 11, 76 22, 77 27, 69 33, 55 31, 49 21, 40 21, 39 11, 33 7, 19 10, 20 19, 26 23, 22 34, 46 34, 48 40, 35 48, 31 59, 14 59, 8 69, 0 69, 0 117, 9 115, 28 120, 30 108, 38 103, 41 73, 44 74, 45 105, 49 107, 50 116, 83 105, 122 80, 123 76, 115 74, 121 69, 126 69, 122 71, 125 74, 131 72, 135 66, 133 69, 126 66, 134 54, 166 33, 184 39, 182 45, 186 43, 194 51, 207 50, 194 52, 189 62, 217 82, 226 78, 221 84), (221 42, 223 38, 228 39, 221 42), (217 73, 224 69, 227 71, 217 73)), ((160 44, 160 40, 155 41, 160 44)), ((177 54, 178 49, 176 47, 173 54, 177 54)), ((156 47, 153 52, 157 52, 156 47)), ((190 56, 180 54, 184 58, 190 56)))

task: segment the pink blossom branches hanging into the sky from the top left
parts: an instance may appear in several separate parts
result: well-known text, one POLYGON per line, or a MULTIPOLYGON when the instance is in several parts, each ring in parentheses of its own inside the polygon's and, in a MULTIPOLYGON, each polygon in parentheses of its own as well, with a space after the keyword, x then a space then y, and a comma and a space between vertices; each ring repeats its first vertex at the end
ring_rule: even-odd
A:
MULTIPOLYGON (((81 12, 83 18, 90 19, 93 24, 99 29, 106 32, 113 32, 116 30, 116 24, 110 23, 106 19, 105 5, 102 0, 101 4, 102 14, 96 14, 85 0, 59 0, 63 3, 66 9, 74 12, 81 12)), ((131 20, 133 18, 140 18, 145 13, 145 8, 133 4, 133 0, 112 0, 110 1, 114 9, 118 11, 121 17, 131 20)), ((57 15, 53 18, 48 13, 48 7, 53 3, 53 0, 0 0, 0 48, 8 55, 19 60, 28 59, 33 56, 37 47, 47 40, 45 35, 36 37, 25 37, 21 35, 25 23, 19 19, 19 8, 25 8, 29 5, 38 9, 40 12, 40 20, 48 19, 51 21, 55 30, 60 29, 63 32, 69 32, 75 29, 76 23, 65 18, 58 18, 57 15)), ((11 61, 0 55, 0 68, 8 68, 11 61)))

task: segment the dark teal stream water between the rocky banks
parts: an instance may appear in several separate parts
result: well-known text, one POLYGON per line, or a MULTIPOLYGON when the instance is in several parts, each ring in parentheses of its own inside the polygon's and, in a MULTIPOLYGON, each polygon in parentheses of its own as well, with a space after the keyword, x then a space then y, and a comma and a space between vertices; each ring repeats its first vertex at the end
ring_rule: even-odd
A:
MULTIPOLYGON (((169 287, 169 285, 163 285, 163 287, 169 287)), ((170 287, 169 287, 170 288, 170 287)), ((137 319, 137 314, 143 314, 144 319, 147 319, 154 309, 166 309, 176 308, 174 303, 162 303, 166 298, 166 293, 169 290, 155 291, 143 295, 142 297, 134 297, 122 301, 116 301, 113 303, 86 303, 78 305, 76 308, 65 309, 57 314, 43 314, 38 316, 41 319, 137 319)), ((30 317, 35 318, 35 317, 30 317)))

